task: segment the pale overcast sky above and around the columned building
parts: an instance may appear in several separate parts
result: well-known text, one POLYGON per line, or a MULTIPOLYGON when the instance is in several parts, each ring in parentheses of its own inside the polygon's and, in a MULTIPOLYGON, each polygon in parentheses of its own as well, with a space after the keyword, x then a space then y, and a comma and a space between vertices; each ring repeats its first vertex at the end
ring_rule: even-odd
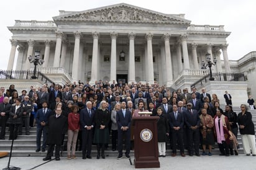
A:
POLYGON ((185 14, 191 24, 224 25, 224 29, 231 32, 227 38, 229 60, 239 60, 250 51, 256 51, 255 0, 9 0, 2 1, 0 7, 0 69, 7 69, 12 37, 7 27, 13 26, 15 20, 53 20, 59 10, 84 11, 122 2, 165 14, 185 14))

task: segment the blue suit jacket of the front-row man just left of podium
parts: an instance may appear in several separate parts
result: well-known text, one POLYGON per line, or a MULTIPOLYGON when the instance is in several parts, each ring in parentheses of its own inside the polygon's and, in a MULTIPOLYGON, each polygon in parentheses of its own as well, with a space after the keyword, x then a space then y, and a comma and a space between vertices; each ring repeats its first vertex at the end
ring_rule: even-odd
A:
POLYGON ((121 130, 121 127, 129 127, 130 130, 130 122, 132 121, 132 114, 128 109, 126 109, 126 117, 122 114, 122 109, 116 112, 116 123, 118 126, 118 130, 121 130))

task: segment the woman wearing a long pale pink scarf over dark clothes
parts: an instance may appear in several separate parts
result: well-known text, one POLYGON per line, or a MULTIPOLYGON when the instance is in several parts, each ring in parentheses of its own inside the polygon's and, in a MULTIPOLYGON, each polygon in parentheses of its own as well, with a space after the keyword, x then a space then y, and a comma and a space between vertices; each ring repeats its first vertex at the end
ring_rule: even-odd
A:
POLYGON ((219 151, 221 151, 220 156, 229 156, 229 131, 231 130, 229 120, 225 115, 222 115, 221 110, 216 110, 216 115, 213 119, 214 122, 214 135, 217 139, 217 144, 219 145, 219 151))

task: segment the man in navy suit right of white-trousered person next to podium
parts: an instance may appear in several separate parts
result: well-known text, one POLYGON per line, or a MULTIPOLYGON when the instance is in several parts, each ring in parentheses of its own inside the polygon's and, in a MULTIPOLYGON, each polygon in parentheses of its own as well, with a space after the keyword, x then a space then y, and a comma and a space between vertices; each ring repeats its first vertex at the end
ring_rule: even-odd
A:
POLYGON ((183 146, 184 115, 178 112, 178 106, 176 104, 173 105, 173 112, 171 112, 169 115, 169 124, 173 146, 173 153, 171 156, 176 156, 176 145, 178 144, 180 146, 181 156, 185 157, 183 146))

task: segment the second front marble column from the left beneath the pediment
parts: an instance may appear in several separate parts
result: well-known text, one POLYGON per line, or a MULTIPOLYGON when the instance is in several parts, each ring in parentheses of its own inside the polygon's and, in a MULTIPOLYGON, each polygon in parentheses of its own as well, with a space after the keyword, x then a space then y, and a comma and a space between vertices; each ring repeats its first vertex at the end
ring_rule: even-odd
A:
POLYGON ((75 35, 75 47, 74 47, 74 55, 73 55, 73 65, 72 65, 72 81, 78 82, 78 71, 79 68, 79 48, 80 48, 80 38, 81 32, 74 32, 75 35))

